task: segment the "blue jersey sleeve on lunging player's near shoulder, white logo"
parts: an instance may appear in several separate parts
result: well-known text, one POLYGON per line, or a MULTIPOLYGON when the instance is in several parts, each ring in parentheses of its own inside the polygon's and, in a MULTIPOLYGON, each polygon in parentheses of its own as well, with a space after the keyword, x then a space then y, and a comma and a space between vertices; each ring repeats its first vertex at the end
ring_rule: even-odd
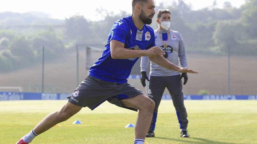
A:
POLYGON ((112 26, 112 37, 110 40, 117 40, 119 42, 125 43, 126 37, 128 35, 128 26, 125 20, 119 20, 115 22, 112 26))

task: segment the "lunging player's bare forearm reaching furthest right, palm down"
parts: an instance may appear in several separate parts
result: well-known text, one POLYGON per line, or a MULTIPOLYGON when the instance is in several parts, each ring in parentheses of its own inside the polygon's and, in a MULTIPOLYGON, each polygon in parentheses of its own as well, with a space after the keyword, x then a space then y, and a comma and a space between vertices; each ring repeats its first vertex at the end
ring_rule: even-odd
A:
POLYGON ((174 71, 177 71, 177 72, 180 72, 180 73, 184 73, 184 72, 188 72, 188 73, 192 73, 192 74, 197 74, 198 73, 197 71, 191 70, 189 68, 178 67, 178 66, 169 62, 168 60, 166 60, 166 58, 164 58, 163 56, 160 56, 160 55, 148 56, 148 57, 151 61, 153 61, 157 65, 165 67, 166 69, 169 69, 169 70, 174 70, 174 71))

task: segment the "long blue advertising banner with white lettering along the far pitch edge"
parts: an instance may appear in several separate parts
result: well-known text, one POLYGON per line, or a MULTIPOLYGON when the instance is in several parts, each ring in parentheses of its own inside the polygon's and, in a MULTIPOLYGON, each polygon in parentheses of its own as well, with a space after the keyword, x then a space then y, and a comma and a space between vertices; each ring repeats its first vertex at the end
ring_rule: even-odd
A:
MULTIPOLYGON (((6 100, 60 100, 69 97, 70 93, 20 93, 0 92, 0 101, 6 100)), ((163 95, 162 99, 171 99, 163 95)), ((257 95, 184 95, 185 100, 257 100, 257 95)))

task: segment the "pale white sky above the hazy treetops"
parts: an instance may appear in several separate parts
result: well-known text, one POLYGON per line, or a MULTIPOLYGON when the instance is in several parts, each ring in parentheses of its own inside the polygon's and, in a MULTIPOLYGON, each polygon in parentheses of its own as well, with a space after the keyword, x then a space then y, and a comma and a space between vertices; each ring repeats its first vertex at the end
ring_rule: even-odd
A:
MULTIPOLYGON (((164 2, 171 4, 171 0, 154 0, 155 4, 164 2)), ((177 0, 175 0, 177 1, 177 0)), ((184 0, 185 3, 192 6, 192 10, 198 10, 211 6, 214 0, 184 0)), ((245 3, 245 0, 216 0, 218 8, 223 7, 225 1, 230 1, 232 6, 239 8, 245 3)), ((95 10, 97 8, 106 9, 108 12, 119 13, 124 10, 132 12, 131 0, 3 0, 0 4, 0 13, 5 11, 26 13, 30 11, 39 11, 50 14, 52 18, 65 19, 72 15, 84 15, 91 21, 100 20, 102 17, 95 10)))

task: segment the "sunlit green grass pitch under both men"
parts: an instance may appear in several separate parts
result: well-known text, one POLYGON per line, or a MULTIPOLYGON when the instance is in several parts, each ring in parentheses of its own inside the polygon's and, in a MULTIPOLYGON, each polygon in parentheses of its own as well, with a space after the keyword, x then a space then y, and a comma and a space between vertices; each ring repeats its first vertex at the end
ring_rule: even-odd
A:
MULTIPOLYGON (((0 101, 0 143, 15 144, 48 113, 66 103, 56 101, 0 101)), ((180 138, 178 120, 170 100, 163 100, 155 138, 145 144, 254 144, 257 143, 257 101, 185 101, 191 138, 180 138)), ((34 139, 32 144, 132 144, 137 113, 105 102, 94 111, 83 108, 34 139), (72 122, 80 120, 81 125, 72 122)))

